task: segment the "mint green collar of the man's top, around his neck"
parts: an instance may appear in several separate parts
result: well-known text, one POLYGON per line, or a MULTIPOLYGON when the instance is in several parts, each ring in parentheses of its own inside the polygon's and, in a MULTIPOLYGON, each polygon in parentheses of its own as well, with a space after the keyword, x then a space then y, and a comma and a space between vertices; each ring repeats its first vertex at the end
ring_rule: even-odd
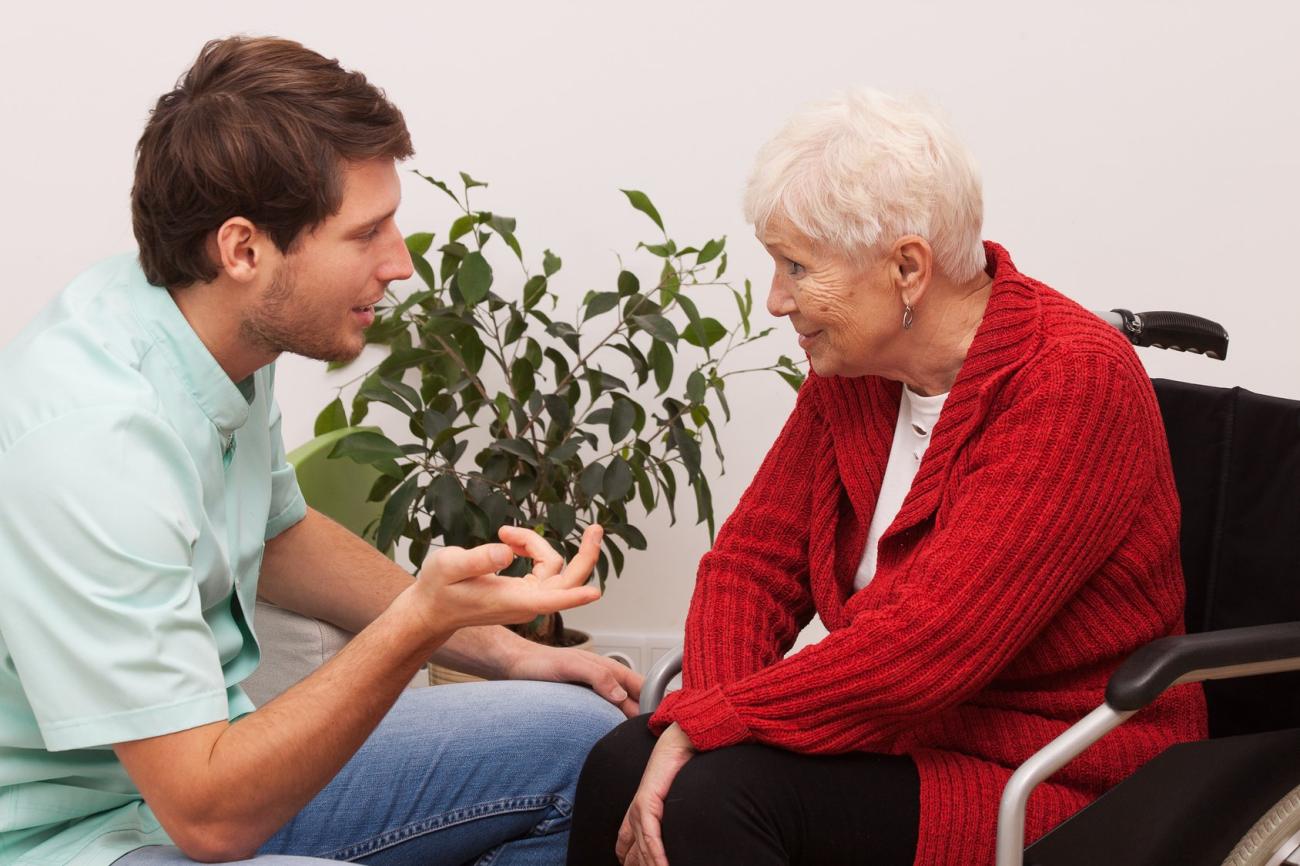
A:
MULTIPOLYGON (((138 264, 135 268, 139 272, 138 264)), ((239 384, 231 381, 194 333, 194 328, 172 299, 172 293, 150 285, 142 272, 139 285, 131 293, 131 302, 146 330, 172 356, 176 371, 204 415, 221 433, 222 440, 229 441, 248 420, 248 407, 257 395, 255 376, 239 384)))

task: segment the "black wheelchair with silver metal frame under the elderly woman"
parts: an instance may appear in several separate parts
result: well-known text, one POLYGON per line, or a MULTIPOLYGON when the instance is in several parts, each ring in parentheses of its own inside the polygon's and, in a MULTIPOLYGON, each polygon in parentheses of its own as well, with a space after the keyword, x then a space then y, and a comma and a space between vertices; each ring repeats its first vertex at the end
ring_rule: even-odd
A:
MULTIPOLYGON (((1196 316, 1097 315, 1135 346, 1227 355, 1227 333, 1196 316)), ((1187 635, 1130 655, 1105 702, 1017 768, 997 866, 1300 866, 1300 402, 1153 385, 1183 512, 1187 635), (1039 783, 1165 689, 1202 681, 1209 740, 1166 749, 1024 848, 1039 783)), ((655 664, 642 713, 680 671, 680 649, 655 664)))

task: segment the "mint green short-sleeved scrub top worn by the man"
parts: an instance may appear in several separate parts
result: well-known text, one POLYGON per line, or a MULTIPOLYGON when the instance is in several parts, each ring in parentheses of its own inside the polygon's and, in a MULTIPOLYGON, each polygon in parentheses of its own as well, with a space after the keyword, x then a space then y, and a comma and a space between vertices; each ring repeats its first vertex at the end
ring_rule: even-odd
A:
POLYGON ((112 745, 254 709, 263 549, 306 514, 273 380, 135 256, 0 350, 0 863, 170 844, 112 745))

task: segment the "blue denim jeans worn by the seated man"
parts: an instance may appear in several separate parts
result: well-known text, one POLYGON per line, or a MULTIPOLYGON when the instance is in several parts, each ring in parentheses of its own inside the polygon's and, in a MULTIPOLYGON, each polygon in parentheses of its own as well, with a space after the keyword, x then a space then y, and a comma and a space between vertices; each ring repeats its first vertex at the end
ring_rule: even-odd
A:
MULTIPOLYGON (((623 720, 575 685, 408 690, 334 780, 244 862, 563 863, 582 761, 623 720)), ((176 848, 150 846, 114 866, 191 862, 176 848)))

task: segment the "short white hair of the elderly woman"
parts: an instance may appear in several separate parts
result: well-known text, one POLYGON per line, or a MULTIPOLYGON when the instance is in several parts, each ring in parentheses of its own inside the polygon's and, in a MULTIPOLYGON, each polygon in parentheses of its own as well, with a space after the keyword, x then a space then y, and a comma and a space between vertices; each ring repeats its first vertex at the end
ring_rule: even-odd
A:
POLYGON ((745 191, 759 231, 774 216, 850 259, 916 234, 949 278, 984 268, 979 169, 920 99, 859 88, 792 117, 759 150, 745 191))

